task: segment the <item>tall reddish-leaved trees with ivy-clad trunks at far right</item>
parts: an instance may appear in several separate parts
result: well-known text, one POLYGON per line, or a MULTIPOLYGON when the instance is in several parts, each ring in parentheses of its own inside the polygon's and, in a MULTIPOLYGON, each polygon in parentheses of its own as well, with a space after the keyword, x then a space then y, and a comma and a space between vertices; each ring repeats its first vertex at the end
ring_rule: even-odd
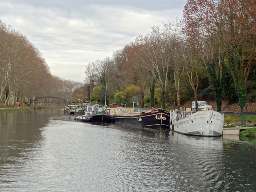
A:
POLYGON ((255 23, 254 0, 188 0, 184 7, 183 32, 207 67, 218 110, 222 78, 227 75, 233 79, 241 110, 246 110, 246 84, 255 64, 255 23))

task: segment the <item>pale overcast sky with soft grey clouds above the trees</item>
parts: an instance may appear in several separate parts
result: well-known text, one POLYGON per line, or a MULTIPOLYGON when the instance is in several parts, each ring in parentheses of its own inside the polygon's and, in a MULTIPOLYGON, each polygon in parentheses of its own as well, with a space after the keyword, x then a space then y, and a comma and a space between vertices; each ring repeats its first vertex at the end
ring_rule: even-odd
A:
POLYGON ((151 26, 181 18, 186 0, 0 0, 0 19, 25 35, 51 73, 83 82, 85 66, 111 57, 151 26))

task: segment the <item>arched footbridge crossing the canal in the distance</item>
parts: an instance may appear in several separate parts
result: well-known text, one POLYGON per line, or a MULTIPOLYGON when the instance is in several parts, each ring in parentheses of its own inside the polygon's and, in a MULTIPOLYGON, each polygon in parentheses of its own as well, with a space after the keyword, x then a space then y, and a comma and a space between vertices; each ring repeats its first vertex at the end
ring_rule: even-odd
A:
POLYGON ((38 97, 30 101, 24 101, 26 105, 45 105, 45 106, 56 106, 56 105, 67 105, 70 102, 60 97, 45 96, 38 97))

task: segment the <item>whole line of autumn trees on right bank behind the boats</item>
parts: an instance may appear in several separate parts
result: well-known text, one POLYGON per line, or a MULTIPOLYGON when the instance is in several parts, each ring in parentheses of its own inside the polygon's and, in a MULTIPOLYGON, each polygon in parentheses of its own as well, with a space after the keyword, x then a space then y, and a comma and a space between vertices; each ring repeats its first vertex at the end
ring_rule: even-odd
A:
POLYGON ((139 96, 143 108, 209 96, 218 111, 222 99, 246 110, 256 88, 254 1, 188 0, 183 12, 182 20, 152 27, 112 58, 87 65, 88 98, 131 105, 139 96))

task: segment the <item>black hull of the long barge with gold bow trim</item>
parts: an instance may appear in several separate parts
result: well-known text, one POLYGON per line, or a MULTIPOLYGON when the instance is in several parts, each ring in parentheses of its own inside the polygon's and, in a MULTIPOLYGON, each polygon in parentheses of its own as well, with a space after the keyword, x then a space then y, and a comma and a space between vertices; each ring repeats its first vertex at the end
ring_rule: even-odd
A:
POLYGON ((170 113, 169 111, 160 109, 144 113, 130 113, 128 115, 113 115, 112 121, 115 123, 130 125, 140 128, 151 129, 170 129, 170 113))

